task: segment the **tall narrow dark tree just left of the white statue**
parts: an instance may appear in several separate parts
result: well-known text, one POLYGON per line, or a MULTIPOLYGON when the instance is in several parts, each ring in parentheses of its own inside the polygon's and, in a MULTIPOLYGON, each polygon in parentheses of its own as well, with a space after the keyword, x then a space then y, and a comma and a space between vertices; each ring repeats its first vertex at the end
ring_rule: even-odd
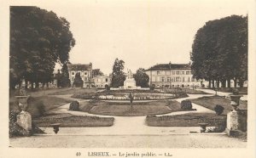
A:
POLYGON ((124 68, 125 68, 125 61, 123 61, 122 59, 114 60, 112 82, 111 82, 112 87, 124 86, 124 82, 125 82, 125 73, 123 71, 124 68))

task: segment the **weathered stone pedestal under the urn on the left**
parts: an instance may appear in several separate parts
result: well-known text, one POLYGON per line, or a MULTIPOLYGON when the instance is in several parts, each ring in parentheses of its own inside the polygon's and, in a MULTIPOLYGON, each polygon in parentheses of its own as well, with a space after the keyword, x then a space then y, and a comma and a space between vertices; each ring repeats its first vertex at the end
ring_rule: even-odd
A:
POLYGON ((26 111, 20 112, 20 114, 17 116, 17 124, 23 129, 25 129, 26 131, 31 131, 32 130, 31 115, 26 111))

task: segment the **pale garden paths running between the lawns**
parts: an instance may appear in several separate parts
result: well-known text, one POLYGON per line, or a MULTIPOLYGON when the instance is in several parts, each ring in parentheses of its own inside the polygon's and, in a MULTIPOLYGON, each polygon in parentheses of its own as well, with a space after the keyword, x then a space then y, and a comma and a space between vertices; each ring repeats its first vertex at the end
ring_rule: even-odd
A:
MULTIPOLYGON (((196 99, 206 94, 190 94, 189 97, 183 99, 196 99)), ((59 96, 63 97, 63 96, 59 96)), ((178 102, 181 102, 183 99, 175 99, 178 102)), ((79 102, 87 100, 79 100, 79 102)), ((101 116, 89 114, 82 111, 71 111, 68 110, 69 104, 64 104, 54 110, 49 110, 48 113, 61 114, 69 113, 74 116, 101 116)), ((193 111, 177 111, 165 115, 158 116, 174 116, 181 115, 186 113, 214 113, 213 110, 209 110, 205 107, 202 107, 199 104, 193 104, 193 108, 196 110, 193 111)), ((109 116, 101 116, 109 117, 109 116)), ((189 134, 189 132, 199 132, 199 127, 148 127, 145 124, 146 116, 113 116, 114 123, 112 127, 86 127, 86 128, 61 128, 60 134, 86 134, 86 135, 169 135, 169 134, 189 134)), ((53 134, 51 128, 44 129, 46 133, 53 134)), ((58 133, 58 134, 59 134, 58 133)))

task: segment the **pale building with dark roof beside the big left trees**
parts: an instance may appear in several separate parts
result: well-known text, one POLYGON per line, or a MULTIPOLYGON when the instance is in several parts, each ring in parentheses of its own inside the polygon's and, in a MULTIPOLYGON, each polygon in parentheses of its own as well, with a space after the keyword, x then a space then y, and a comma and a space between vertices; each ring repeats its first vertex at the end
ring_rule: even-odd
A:
POLYGON ((81 65, 81 64, 67 64, 67 71, 69 73, 69 79, 71 82, 71 85, 73 85, 73 81, 75 78, 75 75, 77 73, 80 73, 80 76, 84 82, 83 87, 92 87, 92 64, 89 65, 81 65))

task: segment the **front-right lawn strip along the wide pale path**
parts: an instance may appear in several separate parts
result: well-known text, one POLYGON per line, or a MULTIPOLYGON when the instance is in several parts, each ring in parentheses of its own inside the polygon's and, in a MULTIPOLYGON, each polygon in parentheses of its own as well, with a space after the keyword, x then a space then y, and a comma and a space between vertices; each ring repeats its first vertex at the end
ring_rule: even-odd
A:
POLYGON ((150 127, 198 127, 198 123, 207 122, 208 126, 217 127, 226 123, 226 116, 209 113, 189 113, 178 116, 147 116, 146 124, 150 127))

